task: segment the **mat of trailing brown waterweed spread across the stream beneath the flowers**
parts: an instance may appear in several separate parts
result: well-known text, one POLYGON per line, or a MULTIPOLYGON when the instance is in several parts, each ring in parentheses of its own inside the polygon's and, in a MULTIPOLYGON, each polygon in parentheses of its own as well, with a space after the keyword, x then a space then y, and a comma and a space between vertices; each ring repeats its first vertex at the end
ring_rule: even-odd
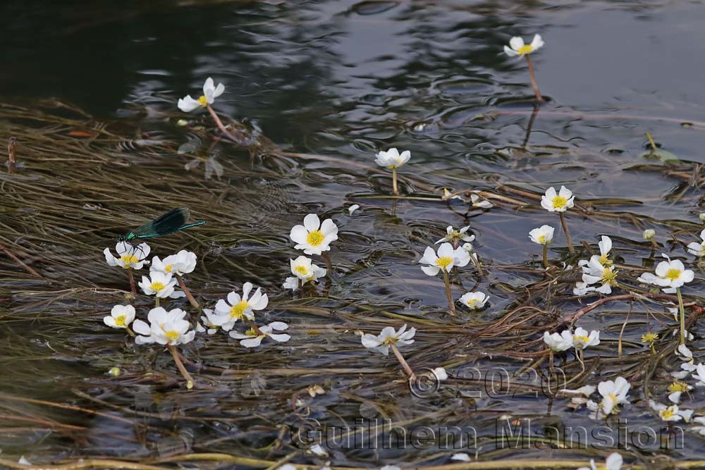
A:
MULTIPOLYGON (((561 119, 547 116, 544 127, 561 119)), ((480 119, 491 129, 516 118, 480 119)), ((474 149, 473 166, 441 166, 415 163, 412 149, 395 198, 374 152, 351 149, 332 133, 320 138, 321 155, 300 154, 247 126, 240 128, 246 144, 236 145, 207 116, 185 125, 179 119, 183 114, 175 112, 98 121, 51 101, 0 106, 0 139, 16 137, 18 157, 16 174, 0 176, 1 464, 20 467, 15 462, 25 454, 33 463, 56 463, 42 468, 72 469, 286 462, 461 469, 501 459, 508 466, 572 468, 617 448, 644 464, 699 458, 694 425, 673 422, 669 435, 668 423, 648 404, 666 402, 670 373, 680 370, 677 322, 666 309, 675 296, 649 293, 637 281, 653 271, 661 252, 694 269, 684 294, 697 363, 702 272, 684 249, 701 229, 689 213, 703 183, 697 163, 663 165, 637 155, 617 161, 585 147, 529 143, 474 149), (551 167, 558 161, 561 179, 548 179, 556 178, 551 167), (589 183, 575 181, 584 166, 618 173, 601 183, 611 189, 600 192, 613 196, 596 197, 589 183), (651 183, 656 196, 620 192, 619 182, 630 178, 651 183), (576 196, 567 213, 574 255, 558 216, 539 204, 554 184, 570 186, 576 196), (443 200, 444 189, 477 190, 493 206, 443 200), (353 204, 360 209, 350 214, 353 204), (140 319, 154 306, 142 293, 130 298, 127 279, 106 264, 104 248, 180 206, 207 225, 150 241, 150 258, 195 252, 188 285, 204 307, 240 292, 245 281, 262 287, 269 306, 258 315, 264 323, 288 323, 291 335, 248 349, 220 332, 198 334, 181 348, 195 379, 191 390, 161 347, 135 345, 102 322, 115 304, 131 302, 140 319), (288 234, 309 213, 338 225, 329 252, 333 274, 292 294, 281 285, 300 252, 288 234), (541 247, 527 236, 544 223, 556 226, 548 271, 541 247), (472 263, 453 271, 453 298, 486 292, 484 309, 459 306, 449 314, 442 278, 419 267, 424 249, 448 225, 470 225, 483 268, 482 276, 472 263), (643 240, 646 228, 656 230, 658 247, 643 240), (598 235, 613 240, 620 287, 590 304, 601 297, 576 297, 572 289, 581 277, 577 262, 599 254, 598 235), (572 350, 555 354, 550 373, 542 335, 575 322, 600 330, 601 342, 584 351, 584 365, 572 350), (361 345, 362 333, 404 324, 417 328, 415 342, 402 349, 416 381, 393 354, 361 345), (658 333, 653 352, 641 340, 647 331, 658 333), (443 381, 431 372, 441 366, 448 373, 443 381), (111 368, 119 374, 110 375, 111 368), (617 376, 629 381, 630 397, 608 419, 595 420, 558 392, 617 376), (314 443, 327 454, 309 450, 314 443), (458 452, 471 462, 450 461, 458 452)), ((429 151, 428 144, 422 149, 429 151)), ((197 320, 184 299, 165 304, 197 320)), ((701 393, 684 393, 682 407, 701 415, 701 393)))

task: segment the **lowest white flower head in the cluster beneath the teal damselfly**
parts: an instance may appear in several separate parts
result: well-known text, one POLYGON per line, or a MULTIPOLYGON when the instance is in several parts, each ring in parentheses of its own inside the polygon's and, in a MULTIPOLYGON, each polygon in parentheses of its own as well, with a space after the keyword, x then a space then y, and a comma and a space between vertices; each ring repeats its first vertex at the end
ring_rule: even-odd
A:
POLYGON ((149 311, 147 320, 149 325, 142 320, 135 320, 133 330, 142 336, 137 336, 135 342, 138 345, 146 345, 157 342, 160 345, 185 345, 191 342, 196 335, 194 330, 190 330, 190 323, 184 319, 186 312, 182 309, 166 311, 162 307, 157 307, 149 311))

